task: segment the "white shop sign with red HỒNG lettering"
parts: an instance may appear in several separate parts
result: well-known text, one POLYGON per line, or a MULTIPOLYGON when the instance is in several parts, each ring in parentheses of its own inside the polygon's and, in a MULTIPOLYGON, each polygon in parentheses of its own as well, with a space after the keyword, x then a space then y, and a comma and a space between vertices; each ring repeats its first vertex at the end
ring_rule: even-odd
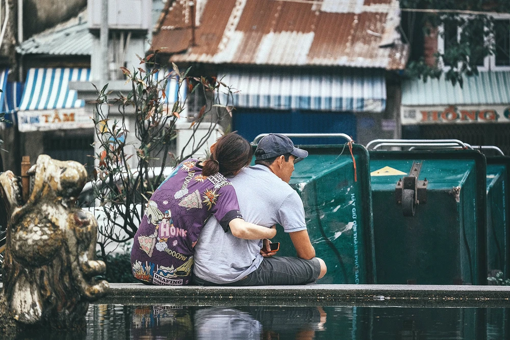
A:
POLYGON ((402 106, 402 125, 510 123, 508 106, 402 106))

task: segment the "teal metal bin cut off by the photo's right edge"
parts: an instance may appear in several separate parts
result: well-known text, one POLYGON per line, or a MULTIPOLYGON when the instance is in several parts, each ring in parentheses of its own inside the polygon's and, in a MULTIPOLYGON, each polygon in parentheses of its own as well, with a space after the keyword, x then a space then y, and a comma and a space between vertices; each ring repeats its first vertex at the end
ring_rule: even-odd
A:
POLYGON ((487 269, 510 275, 508 184, 510 157, 487 157, 487 269))

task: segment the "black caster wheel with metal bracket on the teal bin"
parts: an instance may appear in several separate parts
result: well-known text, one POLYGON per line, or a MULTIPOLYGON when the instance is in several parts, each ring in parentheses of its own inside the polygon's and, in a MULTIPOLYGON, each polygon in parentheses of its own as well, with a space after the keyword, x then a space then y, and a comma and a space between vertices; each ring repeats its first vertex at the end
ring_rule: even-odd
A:
POLYGON ((397 204, 402 204, 402 213, 404 216, 414 216, 416 205, 427 202, 428 181, 418 180, 422 161, 414 161, 409 176, 400 178, 395 187, 395 198, 397 204))

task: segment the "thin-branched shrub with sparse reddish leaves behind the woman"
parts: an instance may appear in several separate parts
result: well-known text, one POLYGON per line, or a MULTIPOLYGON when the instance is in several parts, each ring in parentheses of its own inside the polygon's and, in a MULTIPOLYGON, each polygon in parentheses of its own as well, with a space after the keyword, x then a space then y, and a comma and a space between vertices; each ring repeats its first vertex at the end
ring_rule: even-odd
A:
POLYGON ((228 106, 232 98, 230 87, 215 78, 189 76, 190 68, 183 72, 175 64, 161 76, 164 70, 151 62, 154 58, 154 55, 140 58, 146 69, 130 71, 121 67, 126 84, 131 84, 128 93, 113 94, 108 91, 108 84, 98 90, 94 123, 95 150, 99 152, 95 155, 96 180, 92 186, 98 202, 95 214, 103 257, 109 243, 122 244, 133 239, 145 205, 164 180, 165 167, 174 167, 201 149, 221 119, 232 110, 228 106), (179 83, 175 102, 170 102, 164 91, 169 79, 179 83), (182 98, 180 89, 185 84, 189 95, 182 98), (203 96, 201 102, 206 104, 192 118, 181 117, 191 94, 203 96), (220 97, 227 98, 225 105, 220 103, 220 97), (112 118, 114 108, 117 119, 112 118), (131 130, 127 126, 130 118, 135 121, 131 130), (191 137, 182 150, 172 152, 178 120, 189 122, 191 137), (202 132, 197 136, 199 128, 202 132), (136 164, 136 168, 130 167, 130 163, 136 164))

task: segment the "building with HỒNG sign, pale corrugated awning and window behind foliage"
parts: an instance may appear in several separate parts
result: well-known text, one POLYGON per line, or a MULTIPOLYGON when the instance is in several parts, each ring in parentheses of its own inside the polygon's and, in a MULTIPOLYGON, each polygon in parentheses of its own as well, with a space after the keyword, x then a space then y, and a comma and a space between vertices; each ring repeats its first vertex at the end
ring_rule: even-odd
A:
MULTIPOLYGON (((469 21, 468 21, 469 22, 469 21)), ((494 17, 494 53, 478 61, 478 74, 463 76, 462 85, 439 79, 402 83, 401 122, 404 138, 459 139, 472 145, 495 145, 510 154, 510 15, 494 17)), ((462 27, 440 27, 424 39, 424 57, 455 46, 462 27)), ((483 39, 483 35, 480 35, 483 39)), ((483 41, 482 41, 483 42, 483 41)), ((452 65, 439 60, 446 72, 452 65)))

